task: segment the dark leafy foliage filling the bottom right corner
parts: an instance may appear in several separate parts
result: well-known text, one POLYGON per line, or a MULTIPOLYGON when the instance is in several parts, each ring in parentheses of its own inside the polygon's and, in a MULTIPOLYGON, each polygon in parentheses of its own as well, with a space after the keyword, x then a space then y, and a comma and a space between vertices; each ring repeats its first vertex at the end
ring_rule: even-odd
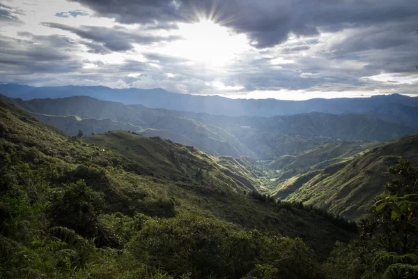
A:
POLYGON ((418 169, 401 160, 389 173, 396 179, 359 220, 360 237, 340 243, 328 259, 327 278, 418 277, 418 169))

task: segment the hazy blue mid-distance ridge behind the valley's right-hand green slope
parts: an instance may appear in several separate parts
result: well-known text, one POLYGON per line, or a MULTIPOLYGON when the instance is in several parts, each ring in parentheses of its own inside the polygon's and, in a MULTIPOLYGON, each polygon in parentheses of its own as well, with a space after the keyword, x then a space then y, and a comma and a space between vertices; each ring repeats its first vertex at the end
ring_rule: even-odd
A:
POLYGON ((312 112, 263 118, 165 113, 223 128, 264 160, 276 160, 284 155, 295 156, 330 141, 384 142, 417 133, 415 128, 359 114, 312 112))

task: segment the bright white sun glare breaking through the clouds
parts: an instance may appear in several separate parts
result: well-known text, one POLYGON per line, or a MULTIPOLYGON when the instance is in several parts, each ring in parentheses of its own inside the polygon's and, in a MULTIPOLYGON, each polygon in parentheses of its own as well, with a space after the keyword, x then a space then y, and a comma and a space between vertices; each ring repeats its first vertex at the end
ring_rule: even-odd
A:
POLYGON ((182 39, 167 45, 164 52, 208 67, 225 66, 249 47, 244 34, 233 33, 208 19, 178 24, 178 35, 182 39))

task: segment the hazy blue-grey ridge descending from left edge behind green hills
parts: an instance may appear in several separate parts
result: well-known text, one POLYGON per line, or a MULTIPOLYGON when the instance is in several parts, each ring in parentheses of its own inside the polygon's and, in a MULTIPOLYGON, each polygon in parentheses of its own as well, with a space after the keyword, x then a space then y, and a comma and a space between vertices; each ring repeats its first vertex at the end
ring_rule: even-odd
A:
MULTIPOLYGON (((180 116, 168 116, 166 110, 153 110, 142 105, 123 105, 86 96, 23 101, 0 95, 0 99, 36 113, 35 116, 42 121, 63 130, 67 135, 76 135, 80 125, 84 126, 82 129, 86 135, 107 130, 138 131, 139 127, 153 128, 183 135, 194 142, 197 148, 211 154, 255 157, 254 152, 225 130, 180 116), (75 121, 76 119, 54 116, 77 116, 80 119, 75 121)), ((163 137, 164 133, 158 136, 163 137)))

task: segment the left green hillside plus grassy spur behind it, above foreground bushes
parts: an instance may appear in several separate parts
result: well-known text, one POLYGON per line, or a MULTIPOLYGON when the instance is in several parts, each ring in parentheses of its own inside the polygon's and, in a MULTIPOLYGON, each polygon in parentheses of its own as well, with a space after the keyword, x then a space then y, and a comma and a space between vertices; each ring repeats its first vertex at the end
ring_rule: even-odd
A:
MULTIPOLYGON (((13 192, 13 197, 26 196, 26 191, 30 197, 41 195, 31 192, 29 186, 35 186, 30 184, 31 180, 26 176, 37 174, 39 169, 49 174, 47 167, 57 170, 56 176, 49 178, 50 183, 42 184, 50 187, 51 195, 61 193, 61 188, 73 186, 71 183, 82 179, 91 192, 71 196, 75 200, 61 201, 82 202, 100 193, 103 211, 96 211, 100 213, 100 218, 92 215, 88 217, 88 222, 97 226, 98 234, 94 234, 98 236, 96 243, 101 245, 118 247, 116 234, 109 232, 111 227, 108 227, 107 218, 113 218, 113 214, 139 218, 139 213, 155 217, 155 220, 194 214, 219 220, 238 232, 245 227, 291 237, 301 236, 316 249, 319 258, 327 255, 336 239, 348 240, 353 236, 353 227, 348 224, 348 229, 344 228, 347 224, 343 220, 311 214, 292 204, 282 206, 271 199, 269 202, 265 197, 261 196, 260 200, 249 195, 259 187, 260 180, 256 169, 251 169, 251 163, 245 158, 213 157, 192 146, 121 130, 86 137, 82 141, 63 135, 60 130, 36 119, 33 114, 3 100, 0 100, 0 120, 1 177, 11 179, 10 183, 1 182, 1 191, 24 187, 13 192), (3 175, 5 169, 7 176, 3 175), (15 176, 22 176, 22 181, 13 180, 15 176), (29 179, 29 182, 25 179, 29 179), (26 182, 29 188, 26 188, 26 182), (293 223, 295 220, 296 226, 293 223), (300 227, 304 229, 300 230, 300 227)), ((2 196, 0 202, 1 210, 1 206, 6 204, 6 209, 15 213, 10 205, 16 202, 15 199, 5 200, 2 196)), ((30 208, 22 210, 26 209, 30 208)), ((80 210, 79 207, 75 208, 76 216, 82 214, 80 210)), ((56 225, 65 223, 70 229, 87 237, 89 234, 80 230, 77 219, 68 218, 73 211, 74 206, 68 211, 56 209, 52 213, 55 218, 52 222, 61 222, 56 225), (61 221, 56 219, 58 210, 64 211, 65 218, 61 221)), ((3 214, 3 211, 0 213, 3 214)), ((26 218, 26 215, 20 218, 26 218)), ((20 219, 16 222, 20 222, 20 219)), ((24 224, 28 226, 28 223, 24 224)), ((32 223, 30 225, 35 226, 32 223)), ((7 230, 5 232, 7 237, 15 237, 9 236, 7 230)), ((26 231, 20 234, 26 234, 26 231)), ((3 239, 0 238, 0 241, 3 239)), ((3 245, 3 242, 0 243, 3 245)))

